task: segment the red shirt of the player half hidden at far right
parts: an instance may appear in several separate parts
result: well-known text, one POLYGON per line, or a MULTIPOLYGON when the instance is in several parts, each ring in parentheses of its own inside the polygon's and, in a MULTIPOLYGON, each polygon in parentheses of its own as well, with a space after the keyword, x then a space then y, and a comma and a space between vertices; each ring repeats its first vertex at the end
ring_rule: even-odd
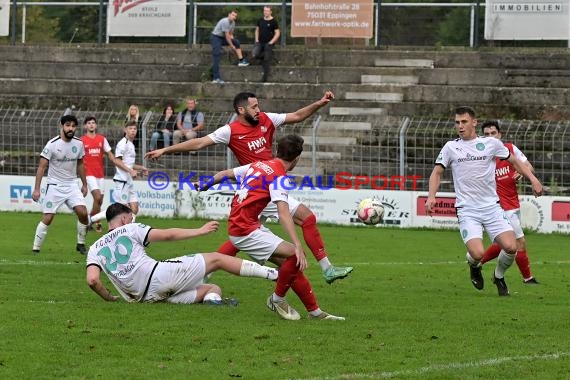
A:
MULTIPOLYGON (((513 144, 505 143, 505 147, 519 161, 527 160, 526 156, 513 144)), ((497 182, 497 195, 503 210, 514 210, 520 208, 517 182, 514 179, 515 167, 507 160, 497 159, 495 167, 495 181, 497 182)))

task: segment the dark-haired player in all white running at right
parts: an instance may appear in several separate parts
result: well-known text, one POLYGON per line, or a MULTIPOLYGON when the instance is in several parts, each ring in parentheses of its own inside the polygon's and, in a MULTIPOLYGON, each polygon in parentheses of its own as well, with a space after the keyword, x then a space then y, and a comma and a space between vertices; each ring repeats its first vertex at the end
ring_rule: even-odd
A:
POLYGON ((485 229, 491 241, 503 249, 492 280, 499 295, 508 296, 509 290, 504 276, 513 263, 517 246, 513 228, 499 204, 495 183, 495 158, 508 160, 526 177, 532 184, 535 196, 542 195, 543 188, 531 170, 512 156, 500 140, 478 137, 476 127, 477 119, 471 107, 458 107, 455 110, 455 128, 459 138, 448 141, 435 161, 429 178, 429 194, 425 208, 431 215, 436 204, 441 176, 446 168, 451 167, 459 231, 468 251, 471 282, 476 289, 481 290, 484 287, 480 261, 485 252, 485 229))

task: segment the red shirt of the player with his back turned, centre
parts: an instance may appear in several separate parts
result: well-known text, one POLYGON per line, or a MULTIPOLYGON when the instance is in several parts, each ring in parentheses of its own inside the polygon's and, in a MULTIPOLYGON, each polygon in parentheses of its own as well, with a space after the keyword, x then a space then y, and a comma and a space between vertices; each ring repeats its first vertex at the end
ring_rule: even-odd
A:
POLYGON ((255 162, 234 169, 239 190, 228 218, 230 236, 246 236, 261 226, 259 214, 269 202, 287 202, 291 183, 277 159, 255 162))

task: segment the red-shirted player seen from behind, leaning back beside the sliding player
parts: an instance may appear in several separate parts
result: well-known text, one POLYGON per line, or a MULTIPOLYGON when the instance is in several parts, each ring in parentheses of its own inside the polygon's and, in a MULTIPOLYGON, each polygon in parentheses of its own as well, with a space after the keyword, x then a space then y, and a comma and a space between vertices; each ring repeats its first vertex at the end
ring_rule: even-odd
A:
MULTIPOLYGON (((237 179, 238 191, 232 201, 228 218, 228 233, 235 247, 247 253, 254 261, 271 261, 279 266, 279 277, 274 293, 267 299, 267 307, 282 318, 298 320, 299 313, 287 303, 285 294, 292 288, 309 312, 309 318, 344 320, 319 308, 309 280, 303 270, 307 258, 293 217, 289 211, 288 189, 291 183, 287 171, 292 170, 303 151, 303 139, 297 135, 282 137, 277 142, 277 156, 267 161, 257 161, 217 173, 211 186, 223 180, 237 179), (279 223, 292 243, 274 235, 259 221, 259 216, 269 203, 275 203, 279 223)), ((206 187, 199 189, 205 190, 206 187)))

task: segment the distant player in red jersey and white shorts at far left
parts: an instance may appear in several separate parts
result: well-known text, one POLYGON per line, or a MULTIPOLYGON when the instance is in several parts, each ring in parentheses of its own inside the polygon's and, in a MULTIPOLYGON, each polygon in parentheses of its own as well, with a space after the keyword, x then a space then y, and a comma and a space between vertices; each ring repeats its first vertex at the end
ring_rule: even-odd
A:
MULTIPOLYGON (((115 156, 113 155, 111 145, 107 138, 97 133, 97 119, 94 116, 88 116, 83 122, 85 134, 81 136, 83 146, 85 147, 85 172, 87 175, 87 186, 93 196, 93 207, 89 212, 89 216, 93 216, 101 212, 103 197, 105 196, 105 166, 103 157, 105 154, 109 161, 115 164, 115 156)), ((93 223, 93 228, 97 232, 102 232, 101 223, 93 223)))

